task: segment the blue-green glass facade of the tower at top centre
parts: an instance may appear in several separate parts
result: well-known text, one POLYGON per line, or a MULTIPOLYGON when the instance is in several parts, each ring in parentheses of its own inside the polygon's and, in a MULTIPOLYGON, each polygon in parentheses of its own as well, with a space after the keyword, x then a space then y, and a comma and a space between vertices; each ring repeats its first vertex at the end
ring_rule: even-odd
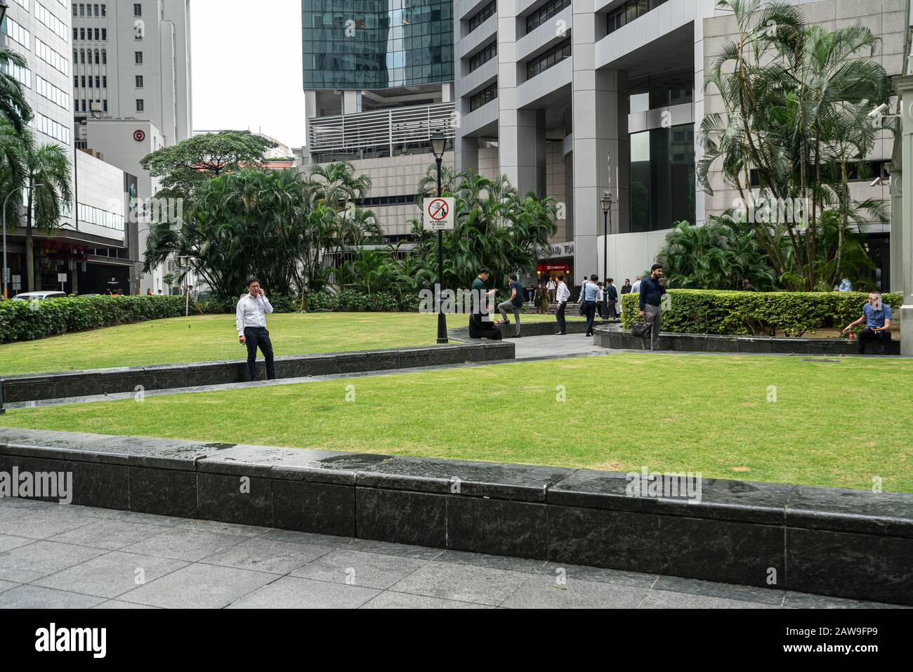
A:
POLYGON ((451 0, 302 0, 301 12, 304 89, 454 79, 451 0))

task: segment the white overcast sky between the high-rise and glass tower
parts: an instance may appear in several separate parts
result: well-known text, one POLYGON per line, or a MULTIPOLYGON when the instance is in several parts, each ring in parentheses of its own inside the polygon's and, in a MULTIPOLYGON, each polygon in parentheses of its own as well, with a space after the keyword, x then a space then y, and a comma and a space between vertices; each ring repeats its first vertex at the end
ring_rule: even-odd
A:
POLYGON ((304 144, 300 0, 192 0, 194 131, 304 144))

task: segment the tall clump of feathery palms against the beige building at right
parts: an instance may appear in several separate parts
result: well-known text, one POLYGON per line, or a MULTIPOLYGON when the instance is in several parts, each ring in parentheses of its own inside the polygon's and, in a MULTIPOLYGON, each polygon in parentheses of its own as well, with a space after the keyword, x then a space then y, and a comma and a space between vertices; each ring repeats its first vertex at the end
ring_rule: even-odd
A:
POLYGON ((719 91, 726 113, 701 123, 698 182, 712 194, 709 173, 719 163, 743 204, 799 199, 798 221, 750 224, 788 289, 829 285, 833 277, 820 274, 842 271, 850 220, 874 213, 870 202, 852 203, 845 176, 833 167, 866 160, 875 131, 866 113, 889 100, 890 79, 871 58, 878 38, 865 26, 806 26, 802 11, 783 2, 720 0, 717 6, 733 13, 738 36, 708 69, 706 88, 719 91), (830 226, 825 212, 834 208, 843 224, 837 244, 822 249, 830 226))

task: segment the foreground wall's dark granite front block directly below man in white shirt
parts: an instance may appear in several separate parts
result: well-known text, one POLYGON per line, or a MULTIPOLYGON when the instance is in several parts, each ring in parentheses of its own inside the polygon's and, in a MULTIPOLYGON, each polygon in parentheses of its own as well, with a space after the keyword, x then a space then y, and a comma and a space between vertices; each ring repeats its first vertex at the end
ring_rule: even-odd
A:
POLYGON ((273 490, 269 478, 198 474, 199 517, 241 525, 273 524, 273 490))

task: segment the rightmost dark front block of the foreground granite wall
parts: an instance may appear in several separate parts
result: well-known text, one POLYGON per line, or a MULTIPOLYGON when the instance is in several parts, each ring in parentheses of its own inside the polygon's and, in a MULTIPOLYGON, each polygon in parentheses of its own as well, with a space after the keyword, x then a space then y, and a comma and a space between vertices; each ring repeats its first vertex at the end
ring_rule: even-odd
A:
POLYGON ((913 604, 913 540, 786 528, 787 588, 913 604))

